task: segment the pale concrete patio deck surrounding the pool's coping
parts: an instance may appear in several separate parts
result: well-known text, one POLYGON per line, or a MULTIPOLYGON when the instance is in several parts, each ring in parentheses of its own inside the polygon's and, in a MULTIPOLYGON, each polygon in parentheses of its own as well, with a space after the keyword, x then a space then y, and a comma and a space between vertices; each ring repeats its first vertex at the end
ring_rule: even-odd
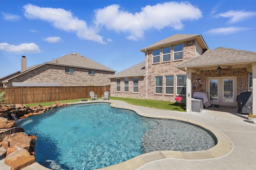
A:
MULTIPOLYGON (((237 114, 237 109, 224 108, 204 108, 200 113, 198 112, 179 112, 179 111, 168 111, 160 109, 152 109, 143 106, 134 106, 127 104, 123 101, 108 100, 114 102, 118 107, 129 107, 138 109, 148 115, 158 117, 180 117, 181 119, 190 119, 202 123, 206 126, 218 129, 226 135, 233 144, 233 149, 228 154, 212 159, 204 159, 202 156, 191 159, 177 159, 177 158, 166 158, 156 160, 153 162, 148 161, 144 166, 137 168, 138 170, 198 170, 198 169, 253 169, 255 167, 255 155, 256 147, 254 141, 256 141, 256 124, 252 124, 246 118, 246 115, 237 114)), ((98 100, 96 102, 104 102, 98 100)), ((190 155, 191 156, 191 155, 190 155)), ((184 156, 186 157, 186 155, 184 156)), ((148 157, 148 160, 154 160, 154 158, 148 157)), ((7 170, 6 166, 3 165, 4 159, 0 160, 0 166, 7 170)), ((134 169, 134 168, 122 168, 118 169, 134 169)), ((45 170, 38 163, 32 164, 24 168, 24 170, 45 170)), ((114 167, 106 167, 104 170, 114 169, 114 167)))

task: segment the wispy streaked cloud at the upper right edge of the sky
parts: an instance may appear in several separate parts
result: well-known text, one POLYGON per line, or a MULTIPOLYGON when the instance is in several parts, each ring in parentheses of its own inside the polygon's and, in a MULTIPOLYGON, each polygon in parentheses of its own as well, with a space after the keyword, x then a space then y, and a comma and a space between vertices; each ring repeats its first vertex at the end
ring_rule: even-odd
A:
POLYGON ((230 18, 228 23, 236 23, 239 21, 246 20, 248 18, 255 17, 255 16, 256 16, 256 12, 245 12, 244 10, 242 10, 242 11, 230 10, 228 12, 220 13, 220 14, 216 15, 217 18, 219 18, 219 17, 230 18))

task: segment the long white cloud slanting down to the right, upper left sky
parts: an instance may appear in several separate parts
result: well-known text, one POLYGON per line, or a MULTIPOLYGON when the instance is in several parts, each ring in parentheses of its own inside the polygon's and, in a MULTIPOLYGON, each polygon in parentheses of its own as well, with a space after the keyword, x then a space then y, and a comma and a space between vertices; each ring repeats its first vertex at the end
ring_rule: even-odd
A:
POLYGON ((41 8, 32 4, 23 6, 24 15, 28 19, 39 19, 52 23, 56 29, 76 33, 80 39, 105 44, 103 37, 97 35, 96 29, 88 27, 86 21, 79 20, 70 11, 61 8, 41 8))

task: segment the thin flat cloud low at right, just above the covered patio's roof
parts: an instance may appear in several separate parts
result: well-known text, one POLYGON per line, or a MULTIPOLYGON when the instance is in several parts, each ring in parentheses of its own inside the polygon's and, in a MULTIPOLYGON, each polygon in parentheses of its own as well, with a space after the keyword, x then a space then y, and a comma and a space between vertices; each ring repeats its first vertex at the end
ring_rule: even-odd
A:
POLYGON ((206 31, 205 33, 211 34, 211 35, 228 35, 228 34, 234 34, 242 31, 247 31, 252 28, 246 28, 246 27, 222 27, 222 28, 214 28, 210 29, 209 31, 206 31))

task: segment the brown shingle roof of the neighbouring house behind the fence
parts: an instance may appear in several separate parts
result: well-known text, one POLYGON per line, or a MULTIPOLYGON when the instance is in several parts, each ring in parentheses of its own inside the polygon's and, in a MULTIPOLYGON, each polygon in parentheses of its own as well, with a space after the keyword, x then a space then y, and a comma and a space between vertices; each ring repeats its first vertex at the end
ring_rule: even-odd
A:
MULTIPOLYGON (((43 64, 36 64, 34 66, 30 66, 26 69, 26 71, 21 72, 20 74, 16 74, 6 80, 3 80, 2 82, 8 82, 8 80, 10 80, 12 78, 20 76, 26 72, 29 72, 31 70, 38 68, 38 67, 44 66, 45 64, 53 64, 53 65, 60 65, 60 66, 116 72, 115 70, 112 70, 111 68, 108 68, 107 66, 97 63, 96 61, 88 59, 87 57, 84 57, 83 55, 80 55, 79 53, 70 53, 70 54, 63 55, 62 57, 59 57, 57 59, 54 59, 52 61, 49 61, 49 62, 46 62, 43 64)), ((10 75, 12 75, 12 74, 10 74, 10 75)), ((2 79, 2 78, 0 78, 0 79, 2 79)))

